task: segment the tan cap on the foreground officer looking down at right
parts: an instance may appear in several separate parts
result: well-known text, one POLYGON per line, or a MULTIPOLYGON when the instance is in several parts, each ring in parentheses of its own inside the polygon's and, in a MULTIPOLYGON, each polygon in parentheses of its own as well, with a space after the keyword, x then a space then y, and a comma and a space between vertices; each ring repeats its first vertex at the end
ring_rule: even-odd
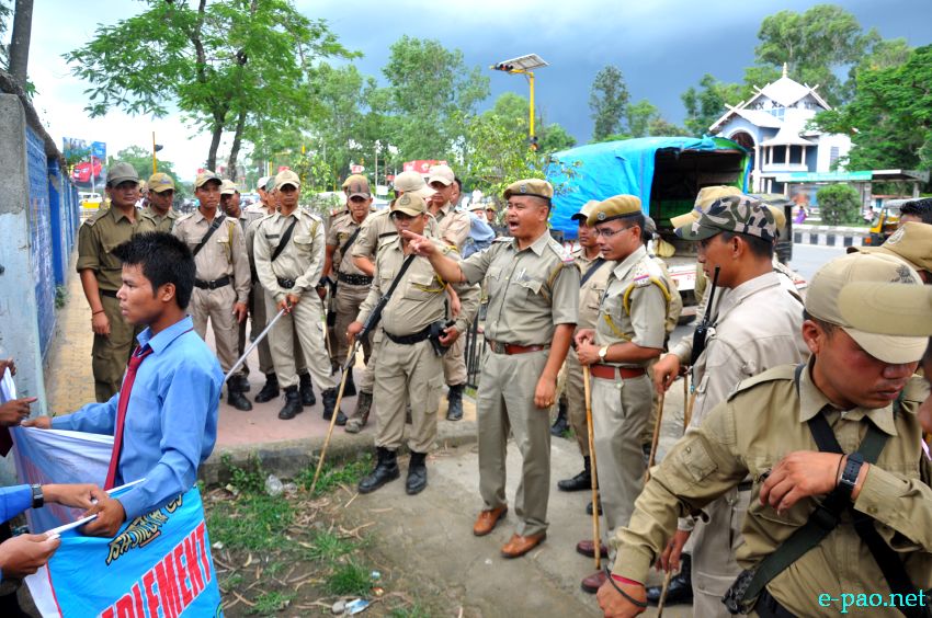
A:
MULTIPOLYGON (((914 332, 914 327, 902 323, 905 320, 895 320, 900 324, 886 323, 891 320, 882 314, 880 308, 893 302, 876 293, 865 294, 871 286, 880 284, 923 289, 919 274, 901 260, 883 253, 849 253, 836 258, 812 276, 806 291, 806 311, 840 327, 867 354, 884 363, 913 363, 925 352, 927 337, 901 334, 914 332), (866 287, 859 285, 849 289, 853 284, 865 283, 866 287)), ((908 294, 919 295, 918 291, 908 294)), ((928 305, 922 306, 928 314, 928 305)), ((903 309, 900 307, 897 311, 903 309)))

